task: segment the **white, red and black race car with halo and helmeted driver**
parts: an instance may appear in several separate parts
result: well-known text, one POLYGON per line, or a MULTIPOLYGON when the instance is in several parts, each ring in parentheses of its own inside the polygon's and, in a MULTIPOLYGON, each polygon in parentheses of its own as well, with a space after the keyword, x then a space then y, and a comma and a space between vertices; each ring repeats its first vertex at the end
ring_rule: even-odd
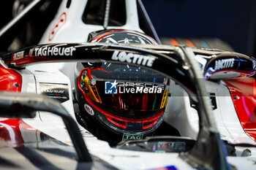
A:
MULTIPOLYGON (((249 81, 252 81, 253 84, 254 80, 246 78, 249 88, 247 88, 246 94, 243 95, 241 95, 243 91, 239 90, 239 88, 241 89, 239 80, 241 80, 241 77, 249 77, 255 74, 255 59, 239 53, 221 50, 189 48, 182 45, 180 47, 156 45, 158 41, 153 41, 152 38, 141 33, 154 33, 152 29, 151 31, 140 29, 142 27, 138 23, 141 24, 142 22, 141 15, 138 17, 140 19, 127 15, 127 22, 124 26, 113 26, 114 30, 98 31, 104 28, 100 25, 102 18, 94 18, 93 14, 83 12, 83 10, 102 6, 99 5, 99 1, 98 4, 94 4, 92 1, 87 2, 88 6, 86 6, 86 1, 83 3, 63 1, 56 18, 42 37, 40 42, 42 45, 26 47, 14 53, 1 55, 1 72, 3 75, 1 90, 40 93, 59 100, 74 120, 80 123, 79 127, 83 134, 83 140, 86 142, 90 155, 94 157, 94 163, 105 161, 111 165, 107 167, 110 169, 115 167, 117 169, 254 169, 253 110, 255 107, 253 96, 249 93, 253 91, 249 88, 253 89, 254 87, 249 85, 249 81), (96 23, 98 25, 80 22, 78 14, 82 15, 83 13, 90 14, 88 20, 93 18, 91 22, 99 19, 99 23, 96 23), (131 31, 131 29, 134 31, 131 31), (119 33, 120 35, 118 35, 119 33), (108 39, 110 37, 112 39, 108 39), (121 44, 129 42, 129 39, 138 41, 140 44, 145 42, 145 44, 151 45, 121 44), (147 41, 151 43, 146 43, 147 41), (109 42, 114 44, 108 44, 109 42), (61 61, 66 63, 59 63, 61 61), (44 64, 36 65, 40 62, 44 64), (116 69, 108 69, 110 63, 116 69), (82 69, 80 69, 81 67, 82 69), (121 74, 125 67, 131 69, 132 72, 121 74), (123 69, 122 72, 121 69, 123 69), (115 70, 117 72, 113 72, 115 70), (97 74, 97 72, 101 73, 97 74), (100 77, 103 73, 104 77, 100 77), (126 78, 124 79, 124 77, 126 78), (239 78, 237 80, 227 80, 235 77, 239 78), (147 80, 147 78, 150 80, 147 80), (138 80, 140 82, 136 82, 138 80), (102 82, 105 85, 102 85, 102 82), (127 84, 127 82, 129 83, 127 84), (121 102, 125 98, 121 96, 120 89, 129 93, 132 88, 136 88, 138 92, 142 89, 141 91, 144 93, 144 89, 150 89, 150 87, 148 88, 149 85, 154 91, 152 92, 154 93, 152 95, 154 99, 151 100, 151 104, 149 104, 151 97, 143 100, 143 104, 140 104, 140 98, 136 99, 132 104, 137 104, 137 107, 132 109, 129 109, 129 106, 132 105, 121 102), (72 90, 72 87, 76 90, 72 90), (96 88, 97 90, 103 88, 103 92, 100 90, 95 92, 94 89, 96 88), (111 91, 112 88, 119 91, 111 91), (107 93, 104 90, 107 90, 107 93), (157 90, 160 91, 159 94, 157 94, 157 90), (206 90, 210 94, 211 103, 208 101, 209 95, 206 90), (122 105, 123 112, 120 112, 120 108, 119 110, 114 108, 115 117, 113 117, 113 108, 111 107, 113 103, 109 104, 110 99, 108 98, 110 96, 117 98, 118 95, 121 96, 119 97, 119 104, 122 105), (73 99, 76 99, 77 102, 73 102, 73 99), (248 101, 251 103, 248 103, 248 101), (146 103, 148 103, 147 106, 151 106, 151 109, 145 107, 146 103), (245 104, 250 104, 249 109, 245 107, 245 104), (76 108, 77 105, 78 108, 76 108), (152 109, 153 106, 154 109, 152 109), (136 110, 139 107, 144 107, 143 110, 140 110, 143 112, 136 110), (124 112, 125 108, 131 110, 131 112, 124 112), (244 114, 243 109, 246 110, 246 114, 244 114), (143 115, 145 112, 146 115, 143 115), (140 115, 140 122, 134 121, 134 117, 137 115, 140 115), (89 125, 91 123, 88 121, 89 119, 92 123, 98 123, 96 125, 102 123, 102 128, 98 129, 95 128, 95 125, 89 125), (103 123, 105 123, 105 126, 103 126, 103 123), (250 128, 250 125, 252 125, 252 128, 250 128), (112 134, 98 133, 102 129, 112 129, 113 133, 121 132, 121 139, 112 137, 112 134), (113 129, 116 129, 116 131, 113 131, 113 129), (157 131, 156 134, 151 134, 155 131, 157 131), (143 132, 146 132, 146 134, 143 134, 143 132), (143 136, 141 136, 142 134, 143 136), (156 136, 159 134, 165 136, 156 136), (219 139, 219 135, 222 140, 219 139), (109 136, 112 140, 124 141, 112 144, 108 140, 109 136), (147 137, 145 138, 145 136, 147 137)), ((105 1, 103 2, 105 3, 105 1)), ((126 14, 136 15, 143 11, 140 1, 123 2, 126 5, 126 14), (137 8, 134 7, 138 7, 140 12, 137 12, 137 8)), ((106 3, 108 4, 109 1, 106 1, 106 3)), ((111 5, 113 5, 112 3, 120 2, 112 1, 111 5)), ((106 11, 108 11, 107 4, 105 5, 106 11)), ((30 4, 28 7, 32 5, 30 4)), ((22 15, 24 13, 21 12, 18 16, 22 15)), ((145 22, 145 13, 142 16, 144 16, 144 20, 142 20, 145 22)), ((105 28, 111 27, 107 24, 105 28)), ((143 25, 143 28, 147 28, 147 26, 143 25)), ((151 28, 150 24, 148 24, 148 28, 151 28)), ((8 32, 8 30, 0 31, 1 35, 8 32)), ((154 34, 150 35, 157 39, 154 34)), ((132 99, 135 97, 129 96, 132 99)), ((146 96, 149 96, 149 94, 146 96)), ((20 98, 26 98, 26 96, 21 95, 20 98)), ((30 98, 32 97, 30 96, 30 98)), ((14 97, 12 96, 9 101, 15 101, 14 97)), ((31 100, 28 98, 29 101, 31 100)), ((20 102, 15 101, 15 103, 18 103, 16 106, 22 105, 20 102)), ((4 106, 15 108, 12 103, 7 103, 4 106)), ((30 107, 26 108, 28 109, 27 112, 31 110, 30 107)), ((60 118, 43 112, 53 112, 53 110, 45 110, 44 108, 36 108, 39 112, 33 119, 23 118, 16 120, 16 122, 6 118, 2 120, 3 126, 1 128, 6 132, 8 131, 7 134, 11 136, 10 139, 13 139, 8 140, 9 136, 2 137, 2 139, 9 141, 7 146, 25 149, 35 147, 36 151, 41 150, 40 148, 46 150, 45 147, 59 148, 59 145, 53 146, 53 144, 46 144, 43 147, 38 146, 41 143, 39 141, 47 142, 48 140, 45 141, 44 139, 49 138, 57 140, 56 143, 59 144, 74 144, 78 155, 80 155, 78 145, 83 144, 75 144, 72 134, 71 139, 67 135, 67 130, 70 131, 69 128, 66 130, 60 118), (14 122, 15 125, 12 124, 14 122), (21 125, 26 125, 26 128, 21 125), (19 137, 17 139, 12 138, 15 134, 12 133, 13 129, 18 130, 19 137), (36 146, 28 144, 31 141, 25 132, 31 131, 31 129, 38 131, 39 134, 44 134, 38 136, 38 133, 31 133, 34 136, 34 142, 38 143, 36 146), (23 139, 23 142, 20 142, 20 139, 23 139), (20 145, 18 145, 19 142, 20 145)), ((17 110, 11 110, 11 113, 13 115, 17 113, 17 110)), ((18 115, 15 117, 18 117, 18 115)), ((67 123, 65 124, 67 125, 67 123)), ((79 134, 78 131, 76 133, 79 134)), ((86 152, 85 150, 83 147, 84 152, 86 152)), ((11 151, 7 150, 7 152, 11 151)), ((23 152, 22 155, 26 155, 25 153, 23 152)), ((27 153, 33 154, 34 152, 29 150, 27 153)), ((61 155, 58 150, 56 152, 51 150, 51 153, 61 155)), ((83 160, 79 157, 74 158, 74 152, 65 153, 69 161, 71 158, 73 163, 78 163, 78 168, 83 161, 91 162, 91 156, 88 156, 88 154, 84 156, 88 159, 83 160)), ((39 152, 39 154, 47 158, 45 151, 39 152)), ((39 156, 39 158, 42 157, 39 156)), ((4 159, 5 162, 11 161, 8 164, 10 166, 13 164, 20 165, 20 162, 15 162, 16 159, 12 160, 10 157, 4 159)), ((45 161, 45 159, 42 159, 42 161, 45 161)), ((30 167, 40 166, 33 161, 31 163, 33 166, 29 165, 30 167)), ((45 165, 48 164, 49 162, 45 163, 45 165)), ((58 163, 53 164, 58 165, 58 163)), ((76 166, 74 167, 76 168, 76 166)), ((23 168, 29 169, 26 166, 23 166, 23 168)), ((69 169, 67 166, 61 166, 62 168, 69 169)))

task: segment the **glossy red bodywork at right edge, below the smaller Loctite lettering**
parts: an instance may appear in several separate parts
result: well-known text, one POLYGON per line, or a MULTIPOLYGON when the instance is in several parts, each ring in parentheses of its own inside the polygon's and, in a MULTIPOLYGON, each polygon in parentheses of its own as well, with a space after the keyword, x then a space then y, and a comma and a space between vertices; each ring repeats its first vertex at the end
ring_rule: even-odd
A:
POLYGON ((256 81, 253 77, 226 80, 238 118, 246 134, 256 142, 256 81))

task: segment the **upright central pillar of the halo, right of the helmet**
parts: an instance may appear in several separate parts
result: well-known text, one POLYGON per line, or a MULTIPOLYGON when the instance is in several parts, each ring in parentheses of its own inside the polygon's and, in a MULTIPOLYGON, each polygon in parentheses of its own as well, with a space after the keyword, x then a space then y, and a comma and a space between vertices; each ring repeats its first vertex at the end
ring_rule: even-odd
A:
POLYGON ((226 160, 227 151, 219 137, 211 109, 210 98, 206 93, 203 72, 200 69, 199 63, 195 60, 195 54, 191 48, 187 46, 181 46, 181 48, 195 75, 196 94, 199 106, 197 111, 201 120, 197 141, 193 149, 185 154, 181 154, 180 157, 184 158, 184 160, 188 159, 188 163, 195 166, 196 169, 230 169, 230 165, 226 160))

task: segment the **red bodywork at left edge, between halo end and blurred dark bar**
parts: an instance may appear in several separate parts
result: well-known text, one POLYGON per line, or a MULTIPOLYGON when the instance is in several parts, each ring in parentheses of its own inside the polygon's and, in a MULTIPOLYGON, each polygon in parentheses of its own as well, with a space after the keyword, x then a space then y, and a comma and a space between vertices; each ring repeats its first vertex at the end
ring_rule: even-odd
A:
POLYGON ((0 64, 0 90, 21 91, 22 77, 13 69, 4 68, 0 64))

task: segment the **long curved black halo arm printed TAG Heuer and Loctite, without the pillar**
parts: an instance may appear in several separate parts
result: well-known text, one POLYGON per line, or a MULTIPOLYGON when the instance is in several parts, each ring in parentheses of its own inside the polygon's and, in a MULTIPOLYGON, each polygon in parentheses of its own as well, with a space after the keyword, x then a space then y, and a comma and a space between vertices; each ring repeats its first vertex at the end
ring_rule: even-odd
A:
POLYGON ((187 77, 192 77, 189 69, 184 67, 186 63, 180 56, 180 48, 165 46, 165 45, 110 45, 104 43, 83 43, 83 44, 48 44, 36 45, 19 50, 16 53, 8 53, 1 59, 7 66, 19 69, 25 66, 36 63, 45 62, 99 62, 110 61, 118 63, 129 63, 135 66, 144 66, 147 69, 154 69, 155 72, 160 72, 168 77, 172 77, 177 82, 181 82, 184 88, 192 88, 193 80, 188 80, 187 77), (135 54, 139 60, 124 61, 113 59, 113 53, 123 52, 135 54), (67 53, 65 53, 67 52, 67 53), (145 61, 143 58, 146 58, 145 61), (148 58, 151 58, 151 66, 146 66, 148 58))

